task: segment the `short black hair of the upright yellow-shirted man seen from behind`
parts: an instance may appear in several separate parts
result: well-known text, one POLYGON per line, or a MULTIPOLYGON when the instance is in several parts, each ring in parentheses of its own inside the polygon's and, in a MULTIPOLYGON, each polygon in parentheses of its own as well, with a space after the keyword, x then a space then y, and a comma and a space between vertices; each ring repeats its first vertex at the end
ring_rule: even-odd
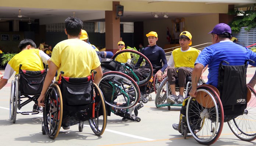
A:
POLYGON ((65 29, 67 33, 71 36, 78 36, 81 29, 83 28, 83 22, 82 20, 76 18, 76 17, 68 17, 65 20, 65 29))

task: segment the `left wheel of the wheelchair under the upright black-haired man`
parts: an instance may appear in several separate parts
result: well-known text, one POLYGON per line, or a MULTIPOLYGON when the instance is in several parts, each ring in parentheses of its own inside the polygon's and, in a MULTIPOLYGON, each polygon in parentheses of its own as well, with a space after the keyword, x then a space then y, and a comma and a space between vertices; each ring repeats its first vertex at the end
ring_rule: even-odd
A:
POLYGON ((46 92, 45 108, 43 109, 43 127, 45 133, 55 139, 60 132, 63 113, 63 102, 60 88, 56 83, 46 92))

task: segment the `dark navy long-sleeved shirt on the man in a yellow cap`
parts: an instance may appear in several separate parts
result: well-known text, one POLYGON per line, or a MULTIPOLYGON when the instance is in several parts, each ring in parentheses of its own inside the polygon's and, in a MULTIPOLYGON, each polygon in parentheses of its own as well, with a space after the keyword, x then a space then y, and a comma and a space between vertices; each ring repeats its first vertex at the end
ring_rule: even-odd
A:
MULTIPOLYGON (((141 53, 149 59, 150 63, 153 67, 162 66, 161 71, 164 72, 164 70, 167 68, 167 60, 166 55, 164 53, 164 50, 157 46, 149 46, 141 50, 141 53)), ((142 63, 142 59, 139 58, 138 62, 136 63, 135 67, 138 67, 142 63)))

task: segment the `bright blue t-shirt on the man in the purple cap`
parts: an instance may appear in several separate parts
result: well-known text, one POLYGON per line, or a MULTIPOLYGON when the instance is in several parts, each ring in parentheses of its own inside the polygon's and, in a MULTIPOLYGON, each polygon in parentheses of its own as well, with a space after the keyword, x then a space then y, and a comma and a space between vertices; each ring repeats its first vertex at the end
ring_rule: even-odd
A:
MULTIPOLYGON (((207 84, 218 86, 218 67, 221 61, 228 61, 229 65, 243 65, 246 60, 256 61, 256 53, 250 49, 235 44, 232 41, 221 41, 217 44, 210 45, 202 50, 196 59, 196 63, 204 67, 208 64, 209 74, 207 84)), ((255 66, 256 63, 249 63, 255 66)), ((223 65, 227 65, 223 63, 223 65)))

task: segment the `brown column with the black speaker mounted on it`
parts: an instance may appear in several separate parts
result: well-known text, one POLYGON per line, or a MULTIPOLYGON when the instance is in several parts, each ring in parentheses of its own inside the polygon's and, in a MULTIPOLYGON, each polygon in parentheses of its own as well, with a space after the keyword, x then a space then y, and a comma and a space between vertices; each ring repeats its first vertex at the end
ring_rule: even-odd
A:
POLYGON ((106 22, 106 51, 115 53, 117 43, 120 41, 120 18, 116 17, 116 5, 119 5, 119 1, 113 1, 113 10, 105 11, 106 22))

